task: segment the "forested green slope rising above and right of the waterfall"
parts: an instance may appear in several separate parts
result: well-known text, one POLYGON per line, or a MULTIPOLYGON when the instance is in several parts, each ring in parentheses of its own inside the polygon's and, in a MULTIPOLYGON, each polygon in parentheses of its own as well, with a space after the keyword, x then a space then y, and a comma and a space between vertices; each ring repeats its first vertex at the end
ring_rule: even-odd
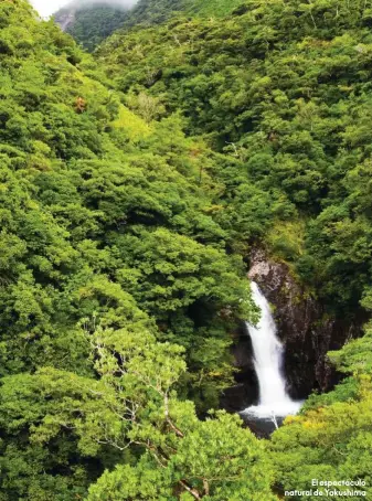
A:
POLYGON ((243 161, 225 195, 236 238, 259 236, 241 193, 269 191, 267 244, 342 315, 371 294, 370 25, 363 1, 254 1, 221 22, 119 31, 97 54, 129 106, 159 99, 162 116, 181 110, 189 135, 243 161))

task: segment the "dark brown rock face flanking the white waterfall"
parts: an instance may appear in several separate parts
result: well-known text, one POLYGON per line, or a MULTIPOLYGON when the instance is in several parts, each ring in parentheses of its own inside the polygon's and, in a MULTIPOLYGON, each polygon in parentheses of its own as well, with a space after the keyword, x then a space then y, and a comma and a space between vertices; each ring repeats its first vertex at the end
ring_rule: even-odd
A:
MULTIPOLYGON (((278 337, 285 347, 284 371, 290 396, 298 399, 313 390, 330 390, 338 382, 338 374, 327 352, 340 349, 348 339, 359 334, 360 328, 329 318, 322 306, 295 280, 288 267, 270 260, 262 249, 252 252, 248 277, 258 284, 273 305, 278 337)), ((236 333, 233 355, 240 370, 236 386, 224 392, 222 405, 235 412, 258 398, 252 345, 244 328, 236 333)))

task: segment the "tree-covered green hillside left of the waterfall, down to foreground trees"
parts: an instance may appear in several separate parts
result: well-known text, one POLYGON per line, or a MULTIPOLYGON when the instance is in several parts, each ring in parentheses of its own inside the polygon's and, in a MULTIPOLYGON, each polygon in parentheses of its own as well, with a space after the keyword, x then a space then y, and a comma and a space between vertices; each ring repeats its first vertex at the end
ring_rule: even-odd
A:
POLYGON ((134 115, 28 2, 1 1, 0 24, 0 498, 113 498, 106 476, 94 484, 116 466, 134 480, 114 499, 202 492, 184 448, 210 462, 240 437, 236 480, 226 465, 211 495, 274 500, 240 419, 196 416, 217 407, 231 331, 254 315, 213 217, 221 160, 179 118, 134 115))

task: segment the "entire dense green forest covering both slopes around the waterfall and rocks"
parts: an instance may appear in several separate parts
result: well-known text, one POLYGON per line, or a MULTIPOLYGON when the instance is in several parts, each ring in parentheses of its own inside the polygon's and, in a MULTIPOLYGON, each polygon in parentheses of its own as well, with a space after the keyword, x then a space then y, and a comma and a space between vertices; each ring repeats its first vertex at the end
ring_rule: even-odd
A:
POLYGON ((330 318, 372 309, 371 2, 128 15, 92 55, 0 0, 0 500, 370 499, 370 323, 268 439, 220 395, 254 245, 330 318))

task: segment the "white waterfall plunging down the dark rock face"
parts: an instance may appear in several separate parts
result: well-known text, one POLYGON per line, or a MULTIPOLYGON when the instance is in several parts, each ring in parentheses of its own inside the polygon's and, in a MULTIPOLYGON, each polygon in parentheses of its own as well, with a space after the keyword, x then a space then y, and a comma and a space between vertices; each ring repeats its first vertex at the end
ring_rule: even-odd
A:
POLYGON ((301 403, 294 402, 286 392, 286 380, 281 372, 284 351, 276 335, 276 324, 269 303, 255 283, 252 283, 252 296, 261 309, 258 324, 246 324, 258 379, 259 403, 246 408, 243 413, 263 418, 297 414, 301 403))

